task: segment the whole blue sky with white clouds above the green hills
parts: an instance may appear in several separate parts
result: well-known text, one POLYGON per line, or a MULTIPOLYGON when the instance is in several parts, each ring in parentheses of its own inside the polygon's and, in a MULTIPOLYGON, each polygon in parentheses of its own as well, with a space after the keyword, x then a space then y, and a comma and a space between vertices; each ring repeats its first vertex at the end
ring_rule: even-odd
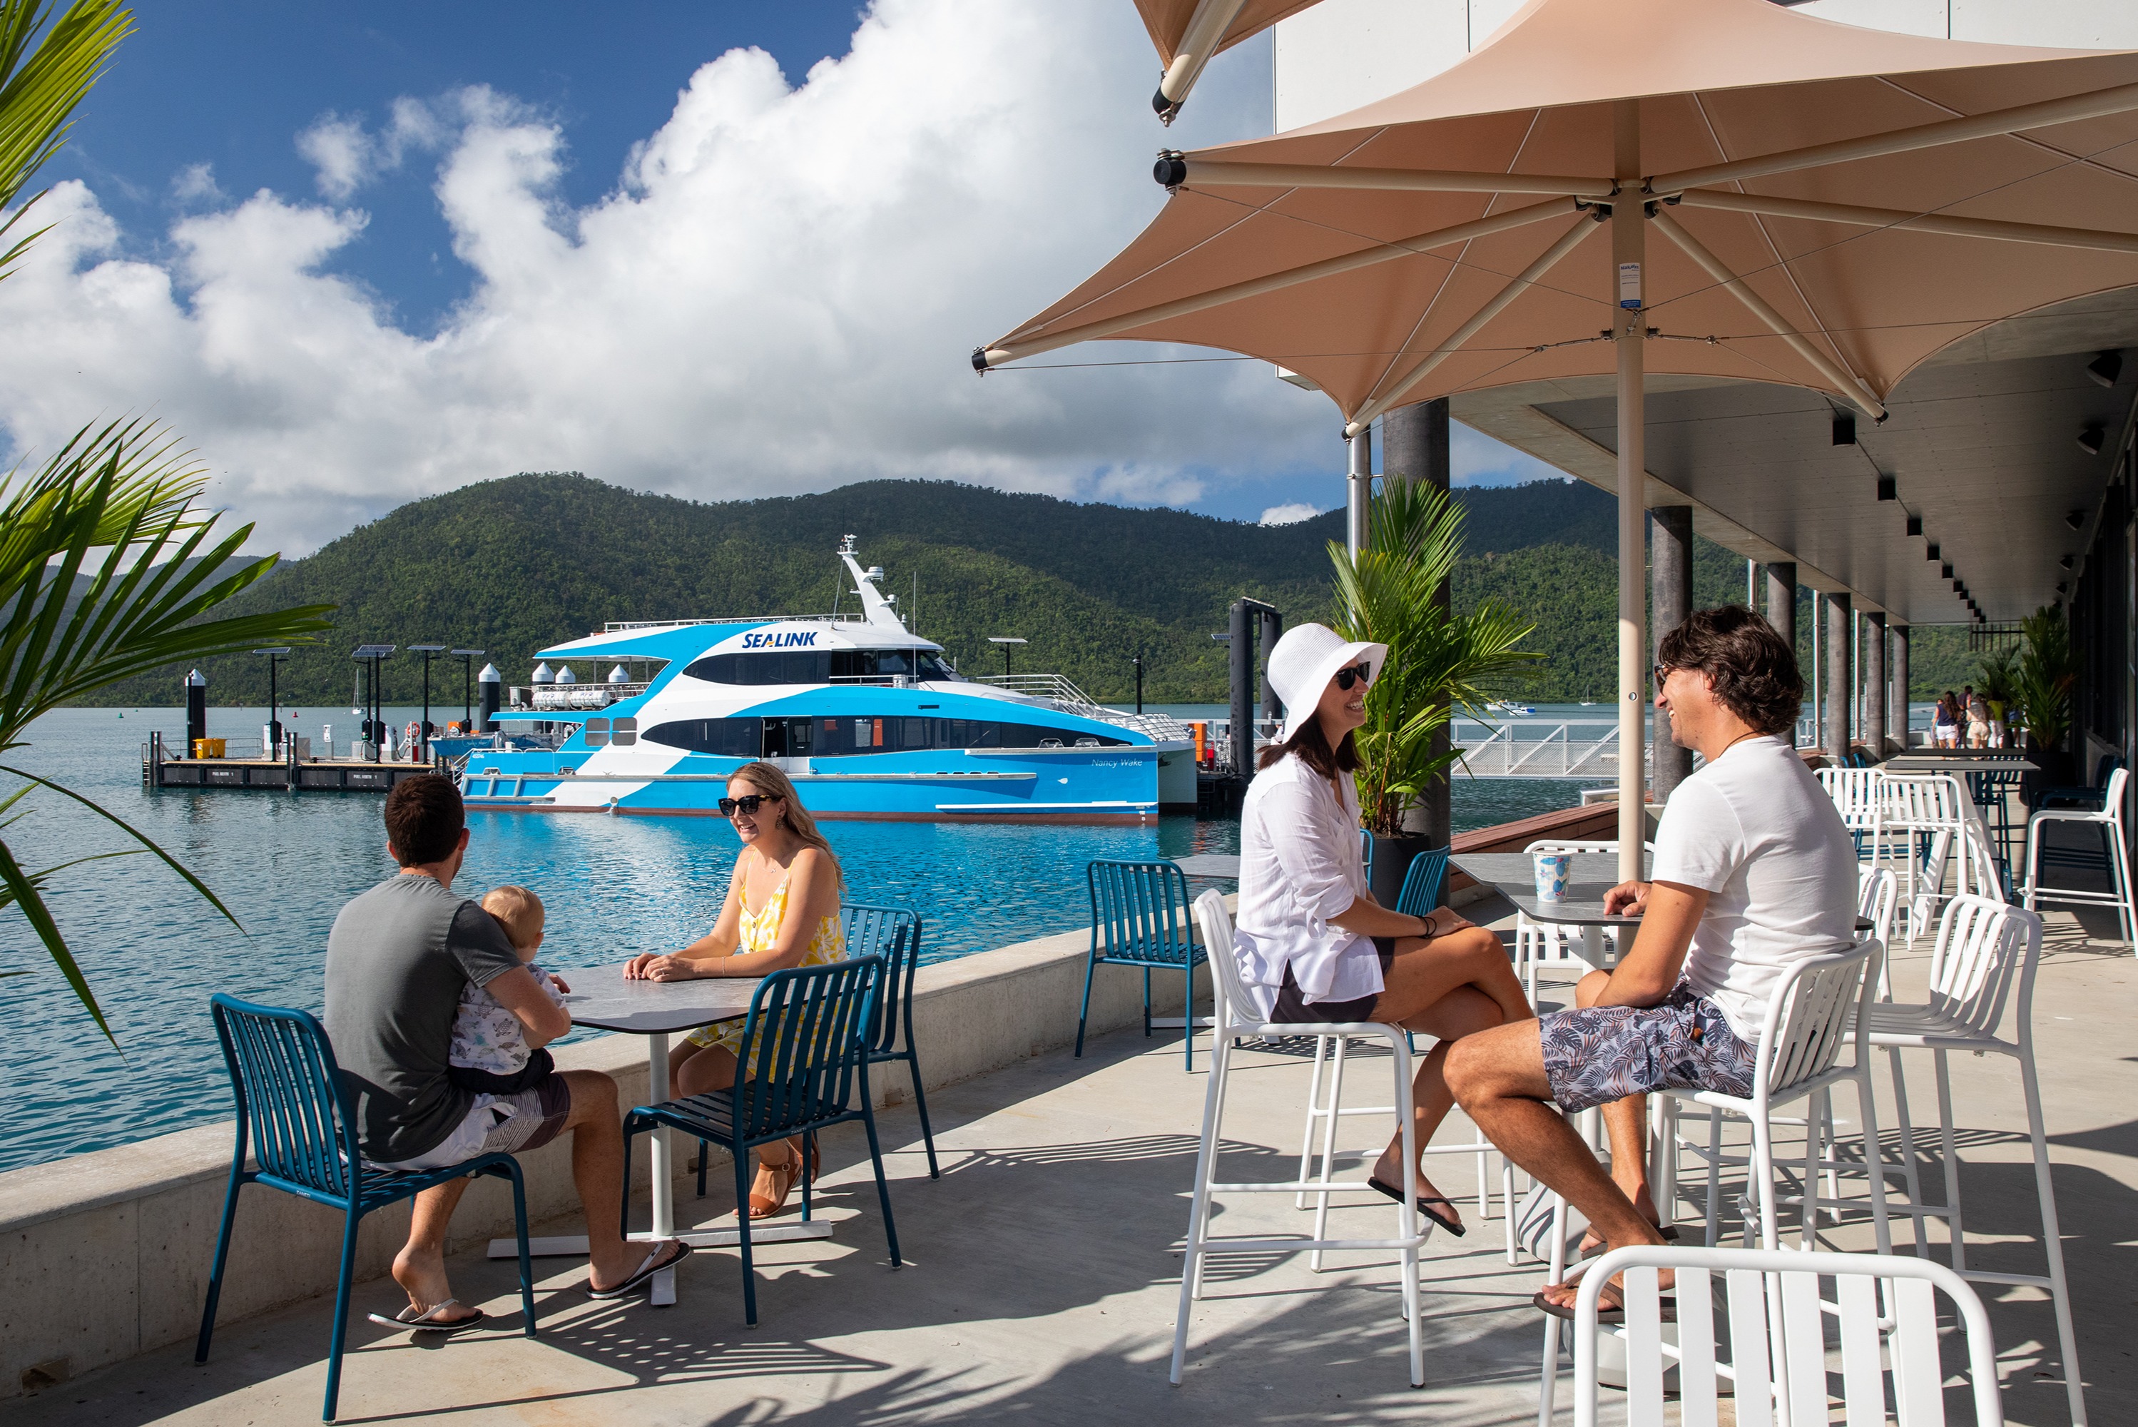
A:
POLYGON ((1268 131, 1268 43, 1161 131, 1127 0, 135 9, 0 287, 17 454, 152 411, 291 552, 522 469, 1343 501, 1334 411, 1259 364, 964 368, 1148 223, 1152 148, 1268 131))

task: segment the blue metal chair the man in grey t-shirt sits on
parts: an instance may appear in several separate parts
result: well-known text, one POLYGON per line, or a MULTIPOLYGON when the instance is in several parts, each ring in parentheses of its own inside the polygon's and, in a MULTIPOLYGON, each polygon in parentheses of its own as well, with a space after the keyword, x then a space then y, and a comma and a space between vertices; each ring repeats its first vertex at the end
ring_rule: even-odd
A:
POLYGON ((301 1010, 252 1006, 216 993, 210 1001, 222 1061, 231 1068, 237 1098, 237 1151, 231 1157, 231 1187, 222 1198, 222 1230, 216 1234, 216 1264, 207 1273, 207 1305, 201 1309, 201 1339, 192 1361, 207 1361, 216 1333, 216 1301, 222 1296, 222 1262, 231 1252, 237 1219, 237 1190, 248 1183, 295 1194, 346 1213, 342 1222, 342 1273, 334 1286, 334 1339, 327 1348, 327 1406, 321 1421, 334 1421, 342 1393, 342 1339, 348 1331, 348 1279, 357 1256, 357 1224, 363 1215, 398 1204, 434 1185, 466 1175, 496 1175, 513 1185, 513 1228, 520 1234, 520 1309, 526 1335, 534 1337, 534 1267, 528 1262, 528 1204, 520 1162, 511 1155, 477 1155, 443 1170, 383 1170, 366 1164, 357 1149, 357 1104, 342 1080, 325 1027, 301 1010), (257 1170, 246 1168, 246 1145, 257 1170))

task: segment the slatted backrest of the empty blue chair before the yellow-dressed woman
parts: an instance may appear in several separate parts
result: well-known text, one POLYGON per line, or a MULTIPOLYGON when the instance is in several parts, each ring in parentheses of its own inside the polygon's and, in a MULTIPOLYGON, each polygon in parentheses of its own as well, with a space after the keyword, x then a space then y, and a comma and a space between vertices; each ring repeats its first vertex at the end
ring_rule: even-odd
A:
POLYGON ((735 1125, 772 1136, 853 1106, 883 984, 881 956, 774 971, 750 997, 738 1059, 757 1076, 735 1087, 735 1125))

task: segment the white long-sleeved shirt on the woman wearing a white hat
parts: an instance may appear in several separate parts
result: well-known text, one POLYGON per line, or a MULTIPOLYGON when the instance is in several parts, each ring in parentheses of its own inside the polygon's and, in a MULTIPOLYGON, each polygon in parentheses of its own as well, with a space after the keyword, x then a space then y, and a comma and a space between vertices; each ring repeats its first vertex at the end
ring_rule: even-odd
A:
POLYGON ((1264 1021, 1285 984, 1285 967, 1313 1001, 1381 993, 1373 937, 1330 922, 1366 896, 1358 792, 1351 774, 1330 781, 1283 757, 1255 774, 1240 807, 1240 911, 1234 952, 1264 1021))

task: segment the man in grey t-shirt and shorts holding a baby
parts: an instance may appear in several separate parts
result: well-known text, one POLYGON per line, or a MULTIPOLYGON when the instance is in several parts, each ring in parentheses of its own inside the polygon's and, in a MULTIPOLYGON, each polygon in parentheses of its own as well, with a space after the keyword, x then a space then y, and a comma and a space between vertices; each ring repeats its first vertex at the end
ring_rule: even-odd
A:
MULTIPOLYGON (((419 777, 387 794, 387 851, 400 875, 342 907, 327 935, 325 1025, 357 1102, 363 1157, 383 1168, 445 1168, 537 1149, 569 1130, 579 1204, 592 1204, 588 1292, 633 1292, 691 1249, 663 1241, 639 1254, 618 1232, 624 1136, 616 1080, 564 1070, 517 1095, 481 1095, 447 1076, 453 1012, 470 982, 520 1021, 530 1048, 571 1029, 496 920, 451 890, 468 851, 460 789, 419 777)), ((402 1322, 451 1331, 483 1318, 453 1299, 445 1273, 445 1230, 466 1187, 453 1179, 415 1200, 408 1243, 393 1258, 393 1282, 408 1292, 402 1322)))

